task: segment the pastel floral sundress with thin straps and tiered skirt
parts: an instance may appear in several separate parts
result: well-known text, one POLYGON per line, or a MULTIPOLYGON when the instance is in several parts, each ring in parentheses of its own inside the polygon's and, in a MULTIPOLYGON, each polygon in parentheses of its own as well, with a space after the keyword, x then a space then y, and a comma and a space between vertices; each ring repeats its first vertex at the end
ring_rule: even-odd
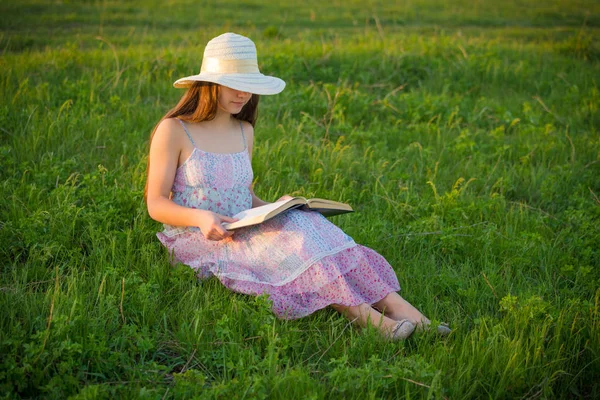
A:
MULTIPOLYGON (((247 149, 203 151, 179 122, 194 150, 177 168, 172 200, 226 216, 251 208, 253 174, 247 149)), ((280 318, 300 318, 331 304, 373 304, 400 290, 394 270, 381 255, 356 244, 314 211, 290 210, 220 241, 206 239, 196 227, 164 225, 157 236, 174 261, 193 268, 199 278, 214 275, 233 291, 267 293, 280 318)))

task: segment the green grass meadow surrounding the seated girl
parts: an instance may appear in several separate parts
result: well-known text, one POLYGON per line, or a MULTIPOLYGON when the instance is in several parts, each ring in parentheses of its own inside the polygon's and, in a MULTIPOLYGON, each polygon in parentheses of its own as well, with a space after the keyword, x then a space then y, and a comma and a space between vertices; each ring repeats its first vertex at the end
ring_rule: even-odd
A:
POLYGON ((600 5, 392 3, 0 5, 0 397, 600 396, 600 5), (224 31, 288 82, 257 194, 350 202, 450 337, 277 320, 169 264, 148 136, 224 31))

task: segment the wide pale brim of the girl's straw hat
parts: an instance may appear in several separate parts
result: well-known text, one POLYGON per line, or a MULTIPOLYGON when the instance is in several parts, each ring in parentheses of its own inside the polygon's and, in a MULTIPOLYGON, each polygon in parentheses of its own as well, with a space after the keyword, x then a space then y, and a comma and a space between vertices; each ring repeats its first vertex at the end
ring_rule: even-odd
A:
POLYGON ((229 88, 260 95, 280 93, 285 88, 285 82, 274 76, 256 74, 209 74, 186 76, 176 80, 173 86, 176 88, 188 88, 194 82, 213 82, 229 88))

